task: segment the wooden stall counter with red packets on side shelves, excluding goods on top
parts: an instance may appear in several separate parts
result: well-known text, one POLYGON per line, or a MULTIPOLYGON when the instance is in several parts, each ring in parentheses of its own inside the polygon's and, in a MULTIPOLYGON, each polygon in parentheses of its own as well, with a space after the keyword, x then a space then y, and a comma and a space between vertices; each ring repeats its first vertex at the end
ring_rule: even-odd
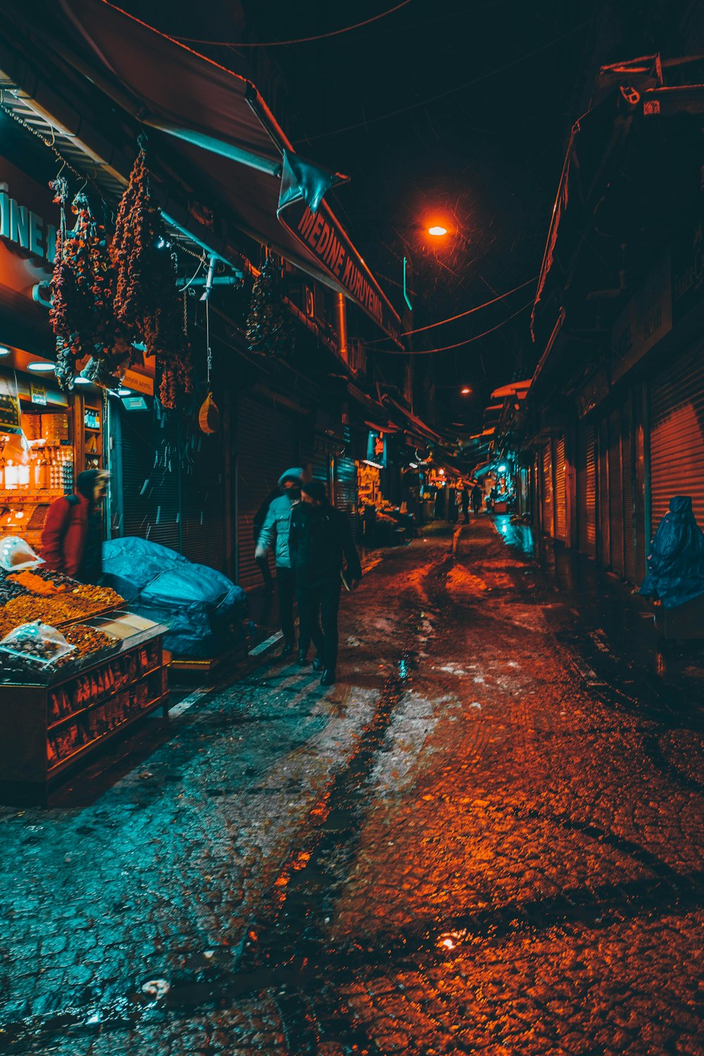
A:
POLYGON ((0 803, 45 804, 63 774, 161 709, 168 715, 167 628, 129 611, 84 620, 118 641, 56 667, 0 671, 0 803))

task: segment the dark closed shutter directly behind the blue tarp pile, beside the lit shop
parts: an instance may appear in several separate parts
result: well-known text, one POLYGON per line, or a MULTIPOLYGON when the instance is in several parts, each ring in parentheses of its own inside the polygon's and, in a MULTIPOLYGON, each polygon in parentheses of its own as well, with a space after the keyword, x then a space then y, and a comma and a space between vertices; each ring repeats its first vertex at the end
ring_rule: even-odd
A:
POLYGON ((178 419, 155 401, 121 411, 122 533, 180 549, 178 419))

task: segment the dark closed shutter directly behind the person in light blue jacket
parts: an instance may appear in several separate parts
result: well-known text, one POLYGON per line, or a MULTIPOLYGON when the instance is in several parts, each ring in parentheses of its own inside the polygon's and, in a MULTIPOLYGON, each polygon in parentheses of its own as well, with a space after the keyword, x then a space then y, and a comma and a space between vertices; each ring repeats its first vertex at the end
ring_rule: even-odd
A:
MULTIPOLYGON (((298 420, 285 408, 243 397, 237 407, 237 584, 245 590, 262 583, 254 563, 253 521, 279 477, 300 465, 298 420)), ((270 558, 271 567, 273 560, 270 558)))

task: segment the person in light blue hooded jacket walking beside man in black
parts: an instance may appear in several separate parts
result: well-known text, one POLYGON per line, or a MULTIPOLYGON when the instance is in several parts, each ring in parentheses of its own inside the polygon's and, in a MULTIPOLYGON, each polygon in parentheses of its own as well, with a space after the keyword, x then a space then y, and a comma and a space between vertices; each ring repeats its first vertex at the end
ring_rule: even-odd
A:
POLYGON ((303 470, 299 467, 287 469, 279 477, 279 487, 283 489, 283 494, 278 495, 269 504, 254 551, 254 559, 259 564, 262 559, 267 560, 267 550, 272 545, 274 547, 279 620, 284 635, 284 647, 281 650, 282 660, 286 660, 296 649, 296 629, 293 625, 296 576, 291 568, 288 536, 291 524, 291 510, 301 501, 302 479, 303 470))

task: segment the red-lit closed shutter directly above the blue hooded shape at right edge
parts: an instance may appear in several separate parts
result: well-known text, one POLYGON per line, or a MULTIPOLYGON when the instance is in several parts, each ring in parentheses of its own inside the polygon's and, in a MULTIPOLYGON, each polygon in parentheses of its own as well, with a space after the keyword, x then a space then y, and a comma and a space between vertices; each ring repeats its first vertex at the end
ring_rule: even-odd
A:
POLYGON ((704 526, 704 356, 699 347, 650 389, 651 532, 673 495, 690 495, 704 526))

